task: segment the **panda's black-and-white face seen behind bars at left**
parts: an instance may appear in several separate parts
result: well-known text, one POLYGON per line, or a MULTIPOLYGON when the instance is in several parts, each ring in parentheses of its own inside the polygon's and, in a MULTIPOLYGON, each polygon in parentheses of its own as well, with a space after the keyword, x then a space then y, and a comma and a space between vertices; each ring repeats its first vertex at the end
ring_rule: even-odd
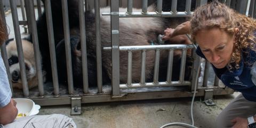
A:
MULTIPOLYGON (((22 40, 22 49, 26 67, 26 76, 29 89, 38 85, 36 75, 36 64, 33 44, 29 41, 22 40)), ((22 81, 20 75, 20 65, 15 41, 10 41, 6 45, 7 58, 9 62, 10 74, 12 77, 12 85, 18 89, 22 89, 22 81)), ((42 59, 41 59, 42 60, 42 59)), ((45 71, 43 71, 43 79, 45 82, 45 71)))

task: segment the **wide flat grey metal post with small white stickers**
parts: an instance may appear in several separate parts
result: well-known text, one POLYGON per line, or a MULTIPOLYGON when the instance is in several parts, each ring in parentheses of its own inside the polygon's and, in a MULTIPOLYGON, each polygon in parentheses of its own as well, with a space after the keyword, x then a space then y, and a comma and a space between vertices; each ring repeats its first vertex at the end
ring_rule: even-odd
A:
POLYGON ((112 92, 120 95, 119 87, 119 1, 111 0, 111 61, 112 61, 112 92))

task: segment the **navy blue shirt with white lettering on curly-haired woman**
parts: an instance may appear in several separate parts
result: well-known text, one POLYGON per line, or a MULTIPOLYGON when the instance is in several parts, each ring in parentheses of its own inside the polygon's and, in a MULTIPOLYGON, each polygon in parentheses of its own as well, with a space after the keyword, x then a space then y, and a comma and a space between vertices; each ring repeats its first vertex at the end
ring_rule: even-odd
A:
MULTIPOLYGON (((200 47, 196 49, 196 53, 205 59, 200 47)), ((256 53, 252 50, 244 50, 242 53, 242 59, 239 65, 239 69, 229 71, 225 68, 215 68, 213 70, 217 77, 222 81, 223 84, 234 89, 235 91, 241 92, 245 99, 250 101, 256 101, 256 86, 255 80, 255 68, 256 68, 256 53)))

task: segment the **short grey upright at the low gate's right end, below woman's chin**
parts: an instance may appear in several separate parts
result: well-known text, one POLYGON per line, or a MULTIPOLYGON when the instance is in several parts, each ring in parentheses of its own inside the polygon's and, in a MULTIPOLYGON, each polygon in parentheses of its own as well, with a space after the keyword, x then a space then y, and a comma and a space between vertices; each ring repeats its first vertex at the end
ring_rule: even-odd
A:
MULTIPOLYGON (((191 85, 191 91, 195 91, 195 86, 197 86, 198 83, 198 76, 200 73, 200 65, 201 65, 201 58, 196 55, 196 49, 193 49, 193 69, 192 69, 192 85, 191 85)), ((197 87, 196 87, 197 88, 197 87)))

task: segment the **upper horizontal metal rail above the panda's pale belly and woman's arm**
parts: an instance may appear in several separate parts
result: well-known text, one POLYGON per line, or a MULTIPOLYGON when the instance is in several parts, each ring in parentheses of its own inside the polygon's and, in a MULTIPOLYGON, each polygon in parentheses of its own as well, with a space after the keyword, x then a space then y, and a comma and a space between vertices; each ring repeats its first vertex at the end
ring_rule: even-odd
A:
MULTIPOLYGON (((111 15, 110 13, 101 13, 102 15, 111 15)), ((191 17, 191 13, 187 12, 177 12, 177 13, 172 13, 172 12, 132 12, 132 13, 126 13, 126 12, 119 12, 119 17, 120 18, 133 18, 133 17, 191 17)))

